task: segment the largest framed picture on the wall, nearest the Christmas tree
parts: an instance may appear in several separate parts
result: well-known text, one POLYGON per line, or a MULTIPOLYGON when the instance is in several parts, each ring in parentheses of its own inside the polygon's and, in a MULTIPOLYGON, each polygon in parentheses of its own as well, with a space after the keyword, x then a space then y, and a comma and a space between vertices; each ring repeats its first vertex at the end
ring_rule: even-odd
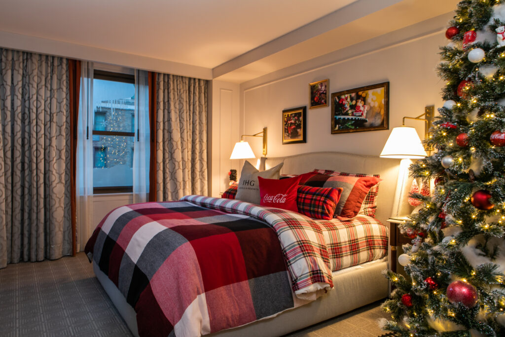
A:
POLYGON ((387 129, 389 82, 331 94, 331 133, 387 129))

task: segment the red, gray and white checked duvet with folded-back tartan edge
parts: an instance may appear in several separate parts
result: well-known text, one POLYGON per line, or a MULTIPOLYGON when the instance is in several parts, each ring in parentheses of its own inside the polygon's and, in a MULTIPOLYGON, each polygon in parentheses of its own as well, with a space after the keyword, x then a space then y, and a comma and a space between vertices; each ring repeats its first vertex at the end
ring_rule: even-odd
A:
POLYGON ((188 196, 119 207, 85 252, 135 309, 141 336, 243 325, 306 303, 291 290, 303 297, 333 285, 317 224, 234 200, 188 196))

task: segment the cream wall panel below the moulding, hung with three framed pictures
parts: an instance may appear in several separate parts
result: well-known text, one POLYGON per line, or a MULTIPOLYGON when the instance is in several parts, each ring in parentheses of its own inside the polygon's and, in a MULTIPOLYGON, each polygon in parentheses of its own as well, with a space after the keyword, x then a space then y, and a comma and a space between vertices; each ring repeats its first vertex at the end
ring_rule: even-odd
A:
MULTIPOLYGON (((436 75, 436 66, 438 48, 446 42, 443 31, 439 31, 323 66, 316 60, 312 69, 288 75, 284 72, 279 78, 269 76, 265 82, 242 83, 240 132, 254 133, 268 127, 267 157, 314 151, 378 156, 390 129, 401 125, 403 116, 421 115, 427 105, 435 105, 435 111, 442 106, 443 82, 436 75), (389 130, 331 134, 331 103, 308 109, 308 84, 326 78, 329 93, 389 81, 389 130), (307 143, 282 145, 282 110, 301 106, 308 109, 307 143)), ((307 64, 304 67, 307 69, 307 64)), ((407 121, 407 125, 416 126, 420 137, 424 136, 423 122, 407 121)), ((260 153, 261 139, 249 141, 260 153)))

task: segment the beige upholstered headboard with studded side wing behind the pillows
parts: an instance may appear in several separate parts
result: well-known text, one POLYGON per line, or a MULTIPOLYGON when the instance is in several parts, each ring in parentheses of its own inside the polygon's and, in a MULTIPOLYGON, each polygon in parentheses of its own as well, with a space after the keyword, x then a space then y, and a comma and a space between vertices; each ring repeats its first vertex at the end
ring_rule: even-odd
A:
MULTIPOLYGON (((397 188, 399 159, 380 158, 378 156, 362 156, 339 152, 312 152, 278 158, 262 158, 260 169, 269 169, 281 162, 284 165, 281 174, 300 174, 313 169, 335 170, 349 173, 380 174, 382 182, 379 185, 377 197, 377 212, 375 216, 383 224, 393 216, 410 213, 407 196, 401 195, 397 188)), ((403 183, 410 187, 410 181, 403 183)))

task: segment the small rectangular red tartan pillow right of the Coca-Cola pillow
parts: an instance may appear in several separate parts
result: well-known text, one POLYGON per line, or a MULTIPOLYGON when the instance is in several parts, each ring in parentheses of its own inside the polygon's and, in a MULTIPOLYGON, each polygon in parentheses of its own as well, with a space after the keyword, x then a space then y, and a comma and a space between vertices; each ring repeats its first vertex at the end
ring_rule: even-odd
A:
POLYGON ((331 220, 341 194, 342 188, 299 185, 296 198, 298 212, 315 219, 331 220))

